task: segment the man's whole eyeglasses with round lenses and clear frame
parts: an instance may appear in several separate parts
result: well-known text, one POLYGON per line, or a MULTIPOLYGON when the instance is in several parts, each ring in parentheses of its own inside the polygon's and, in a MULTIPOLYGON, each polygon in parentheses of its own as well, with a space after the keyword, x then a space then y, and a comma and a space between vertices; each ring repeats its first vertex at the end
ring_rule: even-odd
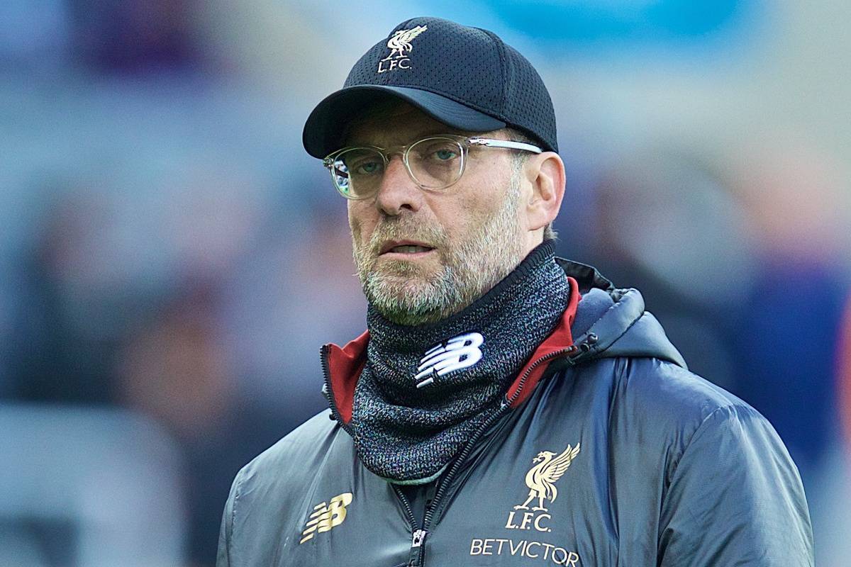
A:
POLYGON ((402 162, 414 183, 425 190, 442 190, 461 179, 471 147, 505 148, 535 154, 543 151, 524 142, 440 134, 391 149, 374 145, 343 148, 323 159, 323 165, 328 167, 334 187, 346 199, 374 196, 394 154, 402 155, 402 162))

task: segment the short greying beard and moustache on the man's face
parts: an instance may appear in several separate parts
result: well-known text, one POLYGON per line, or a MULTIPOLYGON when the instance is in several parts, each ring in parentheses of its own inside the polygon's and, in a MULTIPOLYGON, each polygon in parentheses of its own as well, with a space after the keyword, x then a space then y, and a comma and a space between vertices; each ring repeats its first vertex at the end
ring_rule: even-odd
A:
POLYGON ((388 232, 407 237, 413 237, 411 232, 423 234, 421 229, 404 234, 398 225, 399 230, 376 228, 366 250, 359 249, 357 242, 352 247, 368 302, 387 320, 407 326, 446 319, 473 303, 523 260, 519 200, 515 177, 500 210, 460 245, 449 242, 442 230, 429 230, 433 234, 424 240, 438 244, 438 252, 443 254, 443 270, 434 278, 418 275, 417 266, 401 261, 391 265, 392 274, 374 270, 367 251, 380 246, 380 241, 391 236, 388 232))

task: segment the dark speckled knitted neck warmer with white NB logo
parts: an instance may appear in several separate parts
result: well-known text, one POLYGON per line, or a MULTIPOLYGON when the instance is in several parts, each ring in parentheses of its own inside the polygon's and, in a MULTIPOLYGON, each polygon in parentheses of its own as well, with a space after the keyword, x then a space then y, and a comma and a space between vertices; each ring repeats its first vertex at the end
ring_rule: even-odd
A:
POLYGON ((568 281, 546 241, 482 298, 435 324, 400 326, 370 306, 351 419, 364 466, 400 484, 437 478, 499 410, 567 304, 568 281))

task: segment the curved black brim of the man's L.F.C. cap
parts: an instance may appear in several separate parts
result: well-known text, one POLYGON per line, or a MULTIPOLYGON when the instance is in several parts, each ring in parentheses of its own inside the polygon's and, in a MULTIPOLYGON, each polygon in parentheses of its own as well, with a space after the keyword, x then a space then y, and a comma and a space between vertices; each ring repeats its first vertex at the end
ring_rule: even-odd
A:
POLYGON ((505 128, 505 122, 461 105, 440 94, 419 88, 356 85, 328 95, 307 117, 302 142, 311 156, 323 158, 339 150, 346 126, 370 105, 387 98, 402 99, 416 106, 437 122, 468 132, 490 132, 505 128))

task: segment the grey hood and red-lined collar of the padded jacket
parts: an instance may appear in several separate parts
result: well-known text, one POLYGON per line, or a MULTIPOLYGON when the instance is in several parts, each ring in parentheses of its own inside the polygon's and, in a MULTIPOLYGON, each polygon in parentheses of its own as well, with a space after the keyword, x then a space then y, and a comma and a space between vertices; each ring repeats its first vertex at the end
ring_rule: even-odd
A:
MULTIPOLYGON (((505 393, 505 403, 517 407, 528 398, 545 375, 566 366, 599 358, 651 357, 687 368, 659 321, 644 310, 637 289, 620 289, 597 269, 556 258, 570 286, 570 299, 562 320, 540 344, 505 393)), ((351 421, 355 386, 367 359, 369 332, 344 347, 326 344, 322 349, 325 384, 332 416, 351 421)))

